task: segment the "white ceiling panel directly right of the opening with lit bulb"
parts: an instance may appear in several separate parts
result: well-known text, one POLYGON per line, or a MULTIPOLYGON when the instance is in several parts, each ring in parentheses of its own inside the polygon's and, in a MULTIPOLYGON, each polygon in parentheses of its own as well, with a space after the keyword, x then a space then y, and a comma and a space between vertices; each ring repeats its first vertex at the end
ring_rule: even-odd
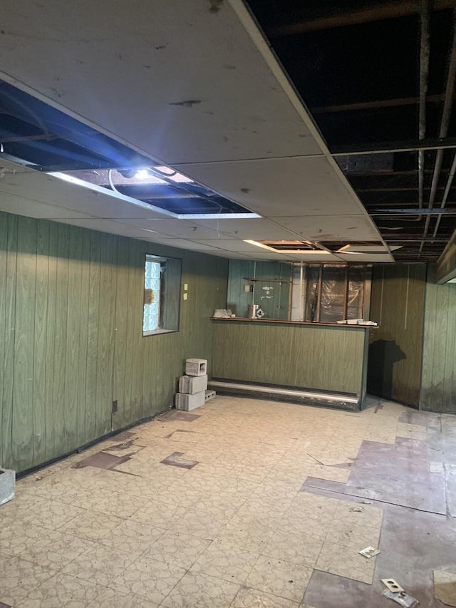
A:
POLYGON ((366 213, 324 157, 180 165, 180 170, 265 217, 366 213))

